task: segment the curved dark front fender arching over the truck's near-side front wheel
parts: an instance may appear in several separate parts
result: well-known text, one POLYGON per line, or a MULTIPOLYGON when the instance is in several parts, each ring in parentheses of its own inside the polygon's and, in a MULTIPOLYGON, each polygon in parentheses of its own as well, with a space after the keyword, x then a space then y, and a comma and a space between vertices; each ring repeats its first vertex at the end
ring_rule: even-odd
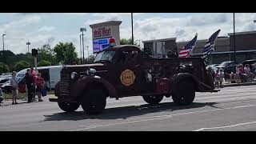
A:
POLYGON ((85 76, 80 78, 77 82, 75 82, 73 88, 71 88, 71 94, 74 94, 74 97, 80 98, 82 94, 85 93, 86 88, 91 86, 92 83, 98 83, 102 86, 102 89, 106 91, 110 98, 117 98, 118 94, 115 90, 114 86, 107 82, 106 79, 101 78, 99 76, 85 76))

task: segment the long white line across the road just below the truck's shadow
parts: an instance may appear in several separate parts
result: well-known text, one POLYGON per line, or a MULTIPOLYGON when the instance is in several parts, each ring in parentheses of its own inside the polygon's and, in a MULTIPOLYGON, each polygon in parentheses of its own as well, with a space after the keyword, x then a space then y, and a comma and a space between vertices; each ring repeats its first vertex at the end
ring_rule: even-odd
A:
POLYGON ((86 126, 85 128, 82 128, 82 129, 68 130, 68 131, 90 130, 90 129, 95 129, 98 127, 117 126, 117 125, 135 123, 135 122, 148 122, 148 121, 154 121, 154 120, 162 120, 162 119, 171 118, 173 116, 184 115, 184 114, 196 114, 196 113, 204 113, 204 112, 218 111, 218 110, 231 110, 231 109, 238 109, 238 108, 251 107, 251 106, 256 106, 256 105, 234 106, 234 107, 229 107, 229 108, 217 108, 217 110, 216 109, 215 110, 200 110, 200 111, 191 111, 191 112, 186 112, 186 113, 181 113, 181 114, 167 114, 167 115, 162 115, 162 116, 152 116, 152 117, 148 117, 151 119, 145 119, 145 120, 139 120, 139 121, 118 122, 118 123, 112 123, 112 124, 106 124, 106 125, 86 126), (160 118, 156 118, 156 117, 160 117, 160 118))

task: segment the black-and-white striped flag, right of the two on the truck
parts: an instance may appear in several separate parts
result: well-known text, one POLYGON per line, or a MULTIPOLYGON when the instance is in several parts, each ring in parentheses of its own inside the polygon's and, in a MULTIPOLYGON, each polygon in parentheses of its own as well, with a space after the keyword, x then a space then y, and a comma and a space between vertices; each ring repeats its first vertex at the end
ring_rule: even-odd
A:
POLYGON ((218 38, 218 34, 221 30, 216 31, 214 34, 210 36, 208 41, 206 42, 206 46, 203 50, 203 57, 205 58, 211 51, 214 51, 215 42, 218 38))

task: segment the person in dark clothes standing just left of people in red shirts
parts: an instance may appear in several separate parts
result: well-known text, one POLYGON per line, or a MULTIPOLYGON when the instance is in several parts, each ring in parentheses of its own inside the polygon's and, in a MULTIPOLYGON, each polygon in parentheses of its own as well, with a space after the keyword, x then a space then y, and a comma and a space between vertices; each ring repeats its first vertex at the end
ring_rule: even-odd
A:
POLYGON ((33 97, 33 77, 31 74, 31 70, 26 70, 26 88, 27 88, 27 102, 32 102, 33 97))

